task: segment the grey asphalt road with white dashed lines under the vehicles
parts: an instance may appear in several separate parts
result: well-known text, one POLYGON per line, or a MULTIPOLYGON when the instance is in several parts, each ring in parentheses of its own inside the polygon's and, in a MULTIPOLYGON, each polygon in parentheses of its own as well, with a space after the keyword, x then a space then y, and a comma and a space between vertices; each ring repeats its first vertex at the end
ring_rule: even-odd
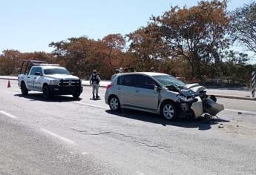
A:
POLYGON ((217 99, 219 119, 167 122, 103 100, 22 96, 0 80, 0 174, 256 174, 256 102, 217 99))

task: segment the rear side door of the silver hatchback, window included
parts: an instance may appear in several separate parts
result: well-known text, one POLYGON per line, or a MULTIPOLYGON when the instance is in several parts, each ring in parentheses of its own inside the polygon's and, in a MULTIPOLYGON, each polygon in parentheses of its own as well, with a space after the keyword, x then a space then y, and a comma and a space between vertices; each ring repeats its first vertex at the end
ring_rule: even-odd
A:
POLYGON ((119 102, 123 106, 132 107, 134 103, 134 92, 136 77, 134 75, 123 75, 117 79, 116 94, 119 98, 119 102))

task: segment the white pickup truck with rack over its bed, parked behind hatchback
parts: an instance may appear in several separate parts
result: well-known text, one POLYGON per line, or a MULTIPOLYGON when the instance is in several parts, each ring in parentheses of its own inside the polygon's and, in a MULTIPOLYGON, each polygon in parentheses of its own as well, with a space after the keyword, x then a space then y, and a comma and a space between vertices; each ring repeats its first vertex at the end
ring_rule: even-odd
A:
POLYGON ((22 62, 18 84, 22 95, 28 91, 39 91, 45 99, 53 95, 73 95, 78 99, 82 93, 82 80, 73 76, 65 67, 47 64, 45 61, 22 62))

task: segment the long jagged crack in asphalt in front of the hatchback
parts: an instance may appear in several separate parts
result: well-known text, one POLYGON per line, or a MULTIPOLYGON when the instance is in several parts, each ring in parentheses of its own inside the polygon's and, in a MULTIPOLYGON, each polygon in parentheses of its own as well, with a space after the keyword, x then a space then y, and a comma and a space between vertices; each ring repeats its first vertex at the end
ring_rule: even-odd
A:
POLYGON ((105 132, 99 132, 99 133, 89 133, 89 131, 86 131, 86 130, 78 130, 78 129, 75 129, 75 128, 71 128, 71 130, 73 131, 77 131, 79 133, 86 133, 88 135, 91 135, 91 136, 99 136, 99 135, 102 135, 102 134, 114 134, 114 135, 119 135, 119 136, 123 136, 123 137, 126 137, 126 138, 131 138, 133 142, 137 143, 137 144, 140 144, 142 146, 145 146, 145 147, 149 147, 149 148, 157 148, 157 149, 160 149, 160 150, 166 150, 166 151, 171 151, 169 148, 163 146, 163 145, 150 145, 148 144, 147 142, 150 142, 148 140, 140 140, 140 139, 137 139, 135 138, 134 136, 128 136, 128 135, 125 135, 123 133, 114 133, 114 132, 111 132, 111 131, 105 131, 105 132))

